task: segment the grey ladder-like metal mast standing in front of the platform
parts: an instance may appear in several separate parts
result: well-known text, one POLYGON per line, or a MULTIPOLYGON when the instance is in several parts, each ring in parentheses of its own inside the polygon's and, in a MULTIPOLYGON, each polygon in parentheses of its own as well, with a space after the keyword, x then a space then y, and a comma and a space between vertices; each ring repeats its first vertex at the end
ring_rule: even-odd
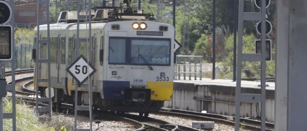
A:
POLYGON ((237 81, 235 93, 235 130, 240 129, 241 102, 261 102, 261 131, 266 130, 266 1, 261 1, 261 12, 244 12, 244 0, 239 0, 237 81), (261 21, 261 54, 242 53, 243 21, 261 21), (261 94, 241 94, 242 62, 261 62, 261 94))

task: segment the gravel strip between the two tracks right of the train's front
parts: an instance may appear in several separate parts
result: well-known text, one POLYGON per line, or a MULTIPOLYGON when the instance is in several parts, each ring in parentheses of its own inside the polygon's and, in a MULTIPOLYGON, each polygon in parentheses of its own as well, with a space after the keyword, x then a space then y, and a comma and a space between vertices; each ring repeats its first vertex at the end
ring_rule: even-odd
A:
MULTIPOLYGON (((137 114, 137 113, 131 113, 131 114, 137 114)), ((167 122, 171 122, 177 125, 183 125, 187 127, 192 127, 192 122, 202 121, 202 120, 191 119, 191 118, 167 116, 167 115, 153 114, 153 113, 149 114, 149 117, 161 119, 167 122)), ((221 124, 221 123, 215 123, 214 126, 215 128, 212 131, 234 131, 235 130, 233 126, 221 124)), ((250 131, 250 130, 242 129, 241 131, 250 131)))

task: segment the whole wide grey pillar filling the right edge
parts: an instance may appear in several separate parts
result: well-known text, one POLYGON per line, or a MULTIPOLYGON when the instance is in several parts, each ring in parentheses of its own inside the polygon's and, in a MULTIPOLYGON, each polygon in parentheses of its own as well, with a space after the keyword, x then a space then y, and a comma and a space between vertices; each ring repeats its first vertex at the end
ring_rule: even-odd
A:
POLYGON ((306 130, 307 1, 278 0, 277 2, 278 54, 276 61, 275 130, 306 130), (282 55, 282 53, 287 54, 287 56, 282 55), (287 65, 283 61, 286 61, 287 65), (287 80, 287 82, 281 80, 287 80), (281 100, 285 94, 287 94, 286 112, 284 107, 281 106, 281 100), (281 109, 278 109, 278 107, 281 107, 281 109), (286 118, 286 124, 283 118, 286 118))

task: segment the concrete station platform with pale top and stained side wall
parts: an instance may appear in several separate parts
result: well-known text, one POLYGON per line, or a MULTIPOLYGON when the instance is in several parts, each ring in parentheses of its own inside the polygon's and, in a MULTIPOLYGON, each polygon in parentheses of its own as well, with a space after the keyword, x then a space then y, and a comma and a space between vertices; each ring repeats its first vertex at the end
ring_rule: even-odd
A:
MULTIPOLYGON (((174 80, 173 96, 164 107, 208 113, 235 115, 236 82, 232 80, 202 78, 202 80, 174 80)), ((242 94, 261 94, 260 81, 241 81, 242 94)), ((266 82, 266 119, 274 122, 275 83, 266 82)), ((282 102, 281 102, 282 103, 282 102)), ((241 117, 256 117, 260 114, 259 103, 241 103, 241 117)))

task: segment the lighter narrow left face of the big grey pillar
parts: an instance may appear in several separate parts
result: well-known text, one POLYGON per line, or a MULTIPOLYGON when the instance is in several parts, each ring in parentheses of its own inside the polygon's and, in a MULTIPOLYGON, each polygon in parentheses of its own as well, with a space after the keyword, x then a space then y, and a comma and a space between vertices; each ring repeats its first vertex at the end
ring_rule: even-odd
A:
POLYGON ((277 1, 275 130, 287 130, 289 0, 277 1))

